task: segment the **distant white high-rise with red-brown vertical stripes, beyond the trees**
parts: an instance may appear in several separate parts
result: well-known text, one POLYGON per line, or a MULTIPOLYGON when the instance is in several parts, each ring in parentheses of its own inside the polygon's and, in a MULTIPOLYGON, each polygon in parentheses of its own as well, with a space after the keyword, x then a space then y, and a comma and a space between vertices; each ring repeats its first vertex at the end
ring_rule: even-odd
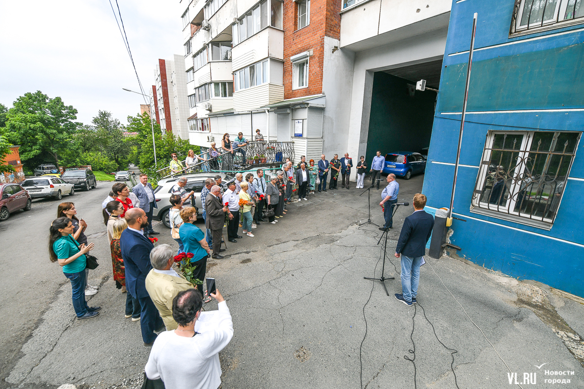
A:
POLYGON ((155 85, 150 94, 150 109, 156 113, 157 123, 163 131, 172 132, 181 139, 189 138, 187 118, 187 78, 182 55, 173 55, 173 60, 158 59, 154 69, 155 85))

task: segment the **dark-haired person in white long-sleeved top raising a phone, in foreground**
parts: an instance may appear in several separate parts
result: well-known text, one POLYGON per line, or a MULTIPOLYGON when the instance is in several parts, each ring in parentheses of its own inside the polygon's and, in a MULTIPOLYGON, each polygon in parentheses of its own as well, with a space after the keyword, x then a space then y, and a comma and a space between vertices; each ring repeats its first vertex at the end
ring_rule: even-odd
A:
POLYGON ((233 321, 219 290, 211 296, 217 300, 214 325, 195 332, 203 307, 200 293, 189 289, 176 295, 172 317, 178 328, 162 332, 154 342, 144 368, 148 379, 161 379, 172 389, 217 389, 221 385, 219 352, 233 337, 233 321))

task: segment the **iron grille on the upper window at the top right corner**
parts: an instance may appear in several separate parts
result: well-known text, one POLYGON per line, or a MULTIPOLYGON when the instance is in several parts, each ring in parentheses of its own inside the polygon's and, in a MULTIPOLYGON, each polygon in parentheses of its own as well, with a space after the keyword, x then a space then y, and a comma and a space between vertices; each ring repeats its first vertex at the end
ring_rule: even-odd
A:
POLYGON ((584 0, 515 0, 510 34, 542 29, 579 19, 584 22, 584 0))

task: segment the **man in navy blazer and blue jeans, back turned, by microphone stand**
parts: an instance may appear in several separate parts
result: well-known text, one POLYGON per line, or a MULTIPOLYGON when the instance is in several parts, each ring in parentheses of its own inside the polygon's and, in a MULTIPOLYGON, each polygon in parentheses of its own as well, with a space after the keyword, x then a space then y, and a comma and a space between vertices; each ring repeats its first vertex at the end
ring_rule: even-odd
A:
POLYGON ((434 218, 424 211, 425 206, 426 196, 416 193, 413 197, 413 213, 405 218, 395 247, 395 258, 401 254, 402 265, 402 293, 395 293, 395 298, 408 306, 416 303, 420 265, 434 227, 434 218))

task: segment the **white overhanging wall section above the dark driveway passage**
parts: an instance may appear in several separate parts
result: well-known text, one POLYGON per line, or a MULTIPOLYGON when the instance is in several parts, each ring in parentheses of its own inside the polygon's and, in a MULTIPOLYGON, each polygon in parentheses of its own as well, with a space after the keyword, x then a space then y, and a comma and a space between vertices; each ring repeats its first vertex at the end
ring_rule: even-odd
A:
POLYGON ((451 0, 361 0, 341 11, 340 45, 361 51, 447 29, 451 3, 451 0))

